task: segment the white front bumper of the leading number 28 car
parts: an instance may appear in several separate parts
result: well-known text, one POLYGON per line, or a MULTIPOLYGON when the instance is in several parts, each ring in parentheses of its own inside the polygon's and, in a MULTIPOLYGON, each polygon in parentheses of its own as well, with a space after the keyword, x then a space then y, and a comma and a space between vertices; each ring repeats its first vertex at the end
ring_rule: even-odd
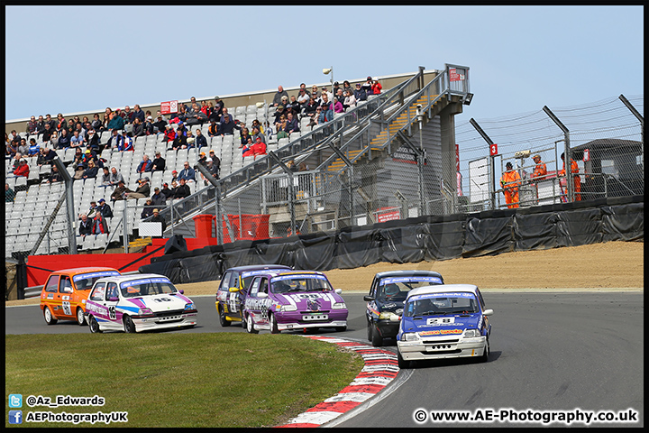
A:
POLYGON ((461 358, 484 355, 487 337, 460 338, 449 340, 427 338, 419 341, 398 341, 398 351, 406 361, 426 359, 461 358))

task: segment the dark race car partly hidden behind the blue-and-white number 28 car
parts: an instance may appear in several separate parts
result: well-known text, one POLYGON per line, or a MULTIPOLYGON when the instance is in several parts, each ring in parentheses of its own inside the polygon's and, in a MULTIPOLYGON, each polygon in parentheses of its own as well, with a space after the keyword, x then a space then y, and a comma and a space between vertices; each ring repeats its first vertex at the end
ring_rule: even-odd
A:
POLYGON ((384 338, 397 336, 404 301, 410 290, 443 284, 442 275, 432 271, 388 271, 374 275, 367 301, 368 340, 374 346, 383 345, 384 338))

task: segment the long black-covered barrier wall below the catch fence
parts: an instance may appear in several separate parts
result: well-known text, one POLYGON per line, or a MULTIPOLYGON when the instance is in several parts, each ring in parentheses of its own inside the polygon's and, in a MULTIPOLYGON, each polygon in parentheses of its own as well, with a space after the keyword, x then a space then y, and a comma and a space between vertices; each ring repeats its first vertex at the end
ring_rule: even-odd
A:
POLYGON ((388 221, 280 239, 237 241, 151 259, 140 272, 174 283, 220 280, 233 266, 279 263, 328 271, 609 241, 644 241, 644 195, 388 221))

